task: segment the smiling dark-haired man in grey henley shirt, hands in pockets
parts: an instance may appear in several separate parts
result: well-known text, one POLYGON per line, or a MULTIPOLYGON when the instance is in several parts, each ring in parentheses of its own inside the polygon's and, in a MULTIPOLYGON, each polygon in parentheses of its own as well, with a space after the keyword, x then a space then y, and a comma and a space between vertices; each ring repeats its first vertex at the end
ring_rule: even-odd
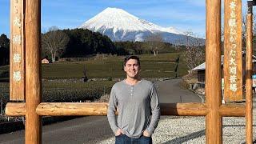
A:
POLYGON ((157 91, 152 82, 140 78, 137 56, 126 57, 123 66, 126 79, 112 87, 107 112, 115 143, 152 143, 151 135, 160 118, 157 91))

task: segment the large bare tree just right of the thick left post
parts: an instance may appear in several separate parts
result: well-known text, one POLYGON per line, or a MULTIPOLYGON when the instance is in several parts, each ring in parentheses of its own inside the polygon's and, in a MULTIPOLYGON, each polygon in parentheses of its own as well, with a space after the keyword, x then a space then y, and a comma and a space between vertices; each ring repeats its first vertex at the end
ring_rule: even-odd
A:
POLYGON ((70 38, 57 26, 52 26, 46 34, 42 34, 42 50, 55 62, 55 58, 63 54, 66 50, 66 44, 70 38))

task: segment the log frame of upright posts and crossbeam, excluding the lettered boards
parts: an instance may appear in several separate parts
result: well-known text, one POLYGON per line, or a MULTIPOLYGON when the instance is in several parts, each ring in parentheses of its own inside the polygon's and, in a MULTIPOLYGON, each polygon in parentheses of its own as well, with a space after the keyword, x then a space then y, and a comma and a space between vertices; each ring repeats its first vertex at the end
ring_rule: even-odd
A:
MULTIPOLYGON (((41 102, 41 1, 26 0, 26 103, 10 102, 6 114, 26 115, 26 144, 42 143, 42 115, 106 115, 107 103, 41 102)), ((206 116, 206 143, 222 143, 222 117, 246 116, 252 143, 252 6, 247 16, 246 106, 223 105, 221 90, 221 0, 206 0, 206 103, 161 104, 162 115, 206 116), (214 75, 214 76, 213 76, 214 75)))

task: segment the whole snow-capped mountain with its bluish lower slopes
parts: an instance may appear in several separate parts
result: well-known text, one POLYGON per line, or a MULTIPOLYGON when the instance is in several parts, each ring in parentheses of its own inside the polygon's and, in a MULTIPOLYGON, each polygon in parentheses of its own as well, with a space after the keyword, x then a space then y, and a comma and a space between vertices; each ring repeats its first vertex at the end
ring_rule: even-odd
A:
POLYGON ((182 31, 162 27, 135 17, 125 10, 106 8, 78 28, 92 30, 108 36, 112 41, 145 41, 150 34, 162 34, 165 42, 182 44, 182 31))

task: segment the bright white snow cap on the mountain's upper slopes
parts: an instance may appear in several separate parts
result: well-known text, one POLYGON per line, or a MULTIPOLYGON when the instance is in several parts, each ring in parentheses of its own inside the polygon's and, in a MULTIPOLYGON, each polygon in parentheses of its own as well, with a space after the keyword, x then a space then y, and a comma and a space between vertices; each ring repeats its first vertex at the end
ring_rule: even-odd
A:
POLYGON ((180 34, 178 30, 169 30, 162 26, 157 26, 154 23, 135 17, 125 10, 111 7, 106 8, 101 13, 94 16, 94 18, 90 18, 90 20, 84 22, 79 28, 103 31, 103 33, 106 30, 113 30, 114 34, 119 30, 124 34, 130 31, 150 31, 150 33, 164 31, 180 34))

